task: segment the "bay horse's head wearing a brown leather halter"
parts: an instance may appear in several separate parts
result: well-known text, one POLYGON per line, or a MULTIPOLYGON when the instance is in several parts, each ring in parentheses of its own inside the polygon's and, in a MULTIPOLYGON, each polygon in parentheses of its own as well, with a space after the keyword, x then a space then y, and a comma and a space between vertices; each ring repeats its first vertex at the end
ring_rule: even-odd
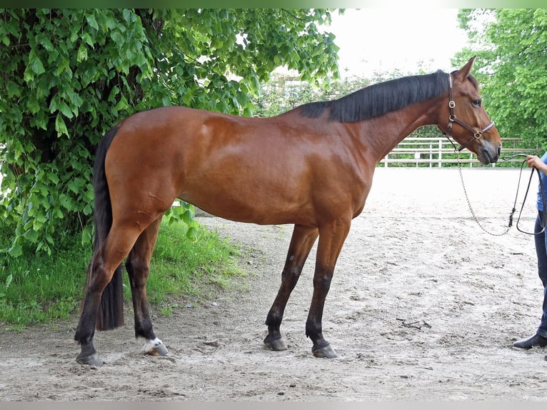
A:
POLYGON ((437 126, 460 144, 458 151, 466 148, 476 154, 481 164, 488 165, 498 161, 501 137, 486 114, 478 83, 471 76, 475 59, 476 56, 448 74, 448 104, 440 110, 437 126))

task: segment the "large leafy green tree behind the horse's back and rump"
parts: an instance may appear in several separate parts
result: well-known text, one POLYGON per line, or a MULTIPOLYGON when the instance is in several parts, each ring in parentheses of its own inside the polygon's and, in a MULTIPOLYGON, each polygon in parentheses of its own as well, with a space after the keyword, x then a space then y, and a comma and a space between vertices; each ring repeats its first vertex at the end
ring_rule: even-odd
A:
MULTIPOLYGON (((101 136, 165 105, 251 115, 273 69, 338 76, 331 11, 0 9, 0 215, 23 246, 91 238, 91 164, 101 136)), ((191 220, 186 211, 185 220, 191 220)))

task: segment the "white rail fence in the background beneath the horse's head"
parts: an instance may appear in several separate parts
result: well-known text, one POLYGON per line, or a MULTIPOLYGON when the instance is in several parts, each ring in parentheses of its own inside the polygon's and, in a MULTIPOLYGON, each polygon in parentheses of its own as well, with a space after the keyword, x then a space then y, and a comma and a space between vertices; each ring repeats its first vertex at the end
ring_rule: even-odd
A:
MULTIPOLYGON (((510 156, 513 154, 543 154, 541 150, 536 148, 521 148, 523 142, 518 138, 504 138, 502 139, 503 148, 501 149, 501 156, 510 156)), ((476 155, 471 151, 464 150, 460 153, 461 164, 468 164, 470 168, 473 165, 480 165, 481 163, 476 158, 476 155)), ((506 162, 512 166, 520 164, 521 159, 510 159, 506 162)), ((505 162, 505 161, 504 161, 505 162)), ((458 157, 454 151, 454 147, 445 137, 438 138, 417 138, 408 137, 403 139, 389 154, 381 159, 380 164, 383 166, 429 166, 430 168, 438 167, 446 164, 457 164, 458 157)), ((495 167, 496 164, 491 164, 495 167)))

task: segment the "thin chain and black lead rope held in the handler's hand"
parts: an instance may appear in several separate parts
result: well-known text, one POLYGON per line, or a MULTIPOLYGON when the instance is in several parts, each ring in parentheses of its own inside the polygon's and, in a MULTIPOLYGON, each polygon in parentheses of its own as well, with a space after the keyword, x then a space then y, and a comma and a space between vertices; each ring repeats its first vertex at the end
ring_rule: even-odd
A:
MULTIPOLYGON (((522 164, 521 164, 521 171, 520 173, 518 174, 518 184, 516 186, 516 195, 515 195, 515 202, 513 204, 513 209, 511 210, 511 214, 509 214, 509 223, 507 225, 507 228, 505 229, 505 231, 501 232, 500 234, 498 233, 493 233, 491 231, 488 231, 488 229, 486 229, 482 224, 481 224, 481 221, 478 220, 476 214, 475 214, 475 211, 473 211, 473 206, 471 206, 471 201, 469 200, 469 196, 467 194, 467 190, 466 190, 466 184, 463 182, 463 174, 461 173, 461 162, 460 162, 460 153, 458 151, 456 151, 456 158, 458 159, 458 172, 460 174, 460 179, 461 179, 461 186, 463 187, 463 194, 465 194, 466 196, 466 201, 467 201, 467 205, 469 207, 469 211, 471 212, 471 216, 473 216, 473 219, 476 221, 477 225, 483 230, 486 232, 486 234, 488 235, 491 235, 491 236, 503 236, 505 234, 508 233, 509 229, 511 229, 511 226, 513 226, 513 214, 515 214, 515 211, 516 211, 516 201, 518 199, 518 189, 520 188, 521 186, 521 176, 522 176, 522 172, 523 172, 523 168, 524 168, 524 164, 526 163, 526 154, 515 154, 515 155, 510 155, 510 156, 503 156, 501 159, 503 159, 503 161, 508 161, 509 159, 512 159, 512 158, 516 158, 517 156, 524 156, 525 159, 522 161, 522 164)), ((522 215, 522 211, 524 209, 524 204, 526 202, 526 197, 528 196, 528 191, 530 190, 530 184, 531 184, 531 181, 532 181, 532 176, 533 176, 533 171, 534 169, 532 169, 532 172, 530 174, 530 179, 528 179, 528 186, 526 187, 526 194, 524 194, 524 198, 523 198, 523 201, 522 201, 522 206, 521 206, 521 211, 519 212, 518 214, 518 218, 517 218, 517 221, 516 221, 516 229, 520 232, 522 232, 523 234, 527 234, 527 235, 539 235, 539 234, 542 234, 546 227, 547 227, 547 201, 546 201, 546 198, 545 198, 545 191, 543 189, 543 181, 541 180, 541 175, 539 174, 539 170, 536 169, 536 172, 538 174, 538 178, 539 178, 539 184, 540 184, 540 187, 541 187, 541 201, 543 201, 543 219, 541 220, 541 231, 539 232, 527 232, 527 231, 523 231, 522 229, 520 229, 518 227, 518 222, 521 221, 521 215, 522 215)))

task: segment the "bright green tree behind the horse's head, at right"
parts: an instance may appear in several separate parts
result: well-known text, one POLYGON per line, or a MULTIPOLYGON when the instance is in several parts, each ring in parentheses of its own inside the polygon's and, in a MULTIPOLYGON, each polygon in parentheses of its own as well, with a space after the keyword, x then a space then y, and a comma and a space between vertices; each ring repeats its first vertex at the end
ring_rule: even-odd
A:
POLYGON ((462 9, 489 114, 502 136, 547 148, 547 9, 462 9))

